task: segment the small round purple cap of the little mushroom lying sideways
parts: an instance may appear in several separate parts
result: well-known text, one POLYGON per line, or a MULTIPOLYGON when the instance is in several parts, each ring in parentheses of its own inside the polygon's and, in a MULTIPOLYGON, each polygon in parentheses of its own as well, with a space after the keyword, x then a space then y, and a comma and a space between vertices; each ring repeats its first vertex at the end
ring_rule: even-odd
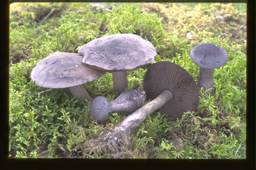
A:
POLYGON ((104 122, 108 117, 108 101, 103 96, 97 96, 90 105, 90 114, 92 118, 99 122, 104 122))

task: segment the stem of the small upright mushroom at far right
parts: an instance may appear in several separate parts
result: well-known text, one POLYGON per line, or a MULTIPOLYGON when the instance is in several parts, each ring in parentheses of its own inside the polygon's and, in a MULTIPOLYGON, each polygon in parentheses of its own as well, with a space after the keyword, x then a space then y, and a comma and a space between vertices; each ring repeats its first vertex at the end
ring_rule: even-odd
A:
POLYGON ((213 68, 202 68, 199 70, 199 79, 197 82, 199 90, 203 87, 204 90, 213 88, 213 68))

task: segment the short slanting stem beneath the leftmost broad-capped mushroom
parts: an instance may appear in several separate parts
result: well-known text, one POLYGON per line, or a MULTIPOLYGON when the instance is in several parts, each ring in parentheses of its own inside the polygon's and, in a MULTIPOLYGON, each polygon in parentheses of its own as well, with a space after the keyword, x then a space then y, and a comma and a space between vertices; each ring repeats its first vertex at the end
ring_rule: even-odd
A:
POLYGON ((78 99, 87 99, 89 102, 92 102, 92 97, 89 96, 87 90, 85 90, 84 86, 78 85, 73 87, 68 87, 69 91, 71 91, 72 96, 78 99))

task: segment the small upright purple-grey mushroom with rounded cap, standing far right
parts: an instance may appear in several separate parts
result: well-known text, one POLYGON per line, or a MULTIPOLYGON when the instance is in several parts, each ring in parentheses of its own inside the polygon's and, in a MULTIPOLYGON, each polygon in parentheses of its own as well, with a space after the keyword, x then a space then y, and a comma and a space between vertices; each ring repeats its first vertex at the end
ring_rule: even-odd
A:
MULTIPOLYGON (((228 54, 223 48, 214 43, 204 43, 196 45, 190 53, 191 60, 194 64, 200 67, 199 79, 197 87, 204 90, 214 87, 213 84, 213 71, 214 68, 223 66, 228 60, 228 54)), ((214 89, 210 91, 214 94, 214 89)))

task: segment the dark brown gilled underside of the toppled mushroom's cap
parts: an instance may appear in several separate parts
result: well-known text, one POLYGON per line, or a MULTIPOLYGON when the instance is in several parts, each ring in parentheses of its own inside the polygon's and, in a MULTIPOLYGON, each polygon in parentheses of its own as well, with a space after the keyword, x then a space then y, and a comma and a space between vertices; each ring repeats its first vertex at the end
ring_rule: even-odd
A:
POLYGON ((149 99, 155 99, 164 90, 174 97, 160 108, 161 113, 180 118, 184 112, 196 110, 199 91, 193 77, 177 64, 161 61, 149 66, 144 75, 143 89, 149 99))

